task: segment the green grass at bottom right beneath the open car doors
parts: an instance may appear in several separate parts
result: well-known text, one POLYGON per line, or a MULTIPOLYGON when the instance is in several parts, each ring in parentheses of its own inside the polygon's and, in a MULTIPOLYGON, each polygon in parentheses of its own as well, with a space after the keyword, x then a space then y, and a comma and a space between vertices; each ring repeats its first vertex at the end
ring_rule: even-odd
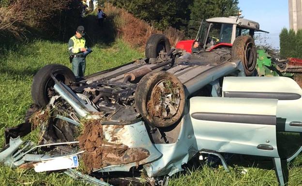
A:
MULTIPOLYGON (((302 186, 302 156, 299 156, 289 164, 288 186, 302 186)), ((210 168, 205 165, 195 171, 188 171, 181 176, 174 176, 169 186, 278 186, 276 175, 272 169, 258 168, 265 164, 254 164, 253 167, 229 165, 229 172, 222 166, 210 168), (245 169, 245 173, 242 172, 245 169)), ((266 164, 271 164, 266 162, 266 164)))

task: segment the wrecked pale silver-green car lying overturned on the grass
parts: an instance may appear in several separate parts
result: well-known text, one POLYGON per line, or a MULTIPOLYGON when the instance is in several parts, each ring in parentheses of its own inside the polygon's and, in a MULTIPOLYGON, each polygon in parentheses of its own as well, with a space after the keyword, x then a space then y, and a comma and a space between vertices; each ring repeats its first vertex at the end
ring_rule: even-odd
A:
POLYGON ((249 42, 232 50, 236 58, 224 48, 191 55, 155 34, 147 58, 79 81, 67 67, 47 65, 33 79, 26 121, 5 129, 0 162, 66 170, 101 186, 110 185, 97 179, 107 172, 135 170, 165 185, 195 156, 217 156, 227 169, 220 153, 235 153, 271 157, 285 185, 281 158, 302 148, 280 157, 276 132, 302 132, 302 89, 286 77, 246 77, 254 50, 249 42), (21 140, 35 128, 38 145, 21 140), (73 169, 80 163, 86 174, 73 169))

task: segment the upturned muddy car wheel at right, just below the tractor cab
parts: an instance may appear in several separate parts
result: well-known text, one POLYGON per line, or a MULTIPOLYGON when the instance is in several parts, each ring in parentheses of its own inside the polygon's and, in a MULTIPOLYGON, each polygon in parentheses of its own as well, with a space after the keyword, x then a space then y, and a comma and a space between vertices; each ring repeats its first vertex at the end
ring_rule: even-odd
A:
POLYGON ((251 36, 239 36, 235 39, 232 52, 232 59, 242 61, 246 76, 252 76, 257 63, 257 50, 254 39, 251 36))

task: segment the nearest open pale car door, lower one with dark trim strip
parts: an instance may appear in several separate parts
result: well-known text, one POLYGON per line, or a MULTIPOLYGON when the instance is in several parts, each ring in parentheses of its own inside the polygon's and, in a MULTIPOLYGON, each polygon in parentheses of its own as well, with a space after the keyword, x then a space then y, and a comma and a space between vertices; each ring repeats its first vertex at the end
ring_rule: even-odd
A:
POLYGON ((274 99, 193 97, 198 150, 279 157, 274 99))

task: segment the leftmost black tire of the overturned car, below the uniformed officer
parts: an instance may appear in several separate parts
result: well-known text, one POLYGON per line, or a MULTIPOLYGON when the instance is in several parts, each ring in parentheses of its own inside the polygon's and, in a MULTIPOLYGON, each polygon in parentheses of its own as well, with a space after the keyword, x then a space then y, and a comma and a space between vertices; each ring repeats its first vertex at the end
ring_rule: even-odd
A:
POLYGON ((33 77, 31 85, 31 97, 35 104, 45 107, 50 97, 55 94, 53 86, 55 82, 50 77, 51 74, 65 85, 75 82, 75 74, 66 66, 60 64, 46 65, 40 69, 33 77))

